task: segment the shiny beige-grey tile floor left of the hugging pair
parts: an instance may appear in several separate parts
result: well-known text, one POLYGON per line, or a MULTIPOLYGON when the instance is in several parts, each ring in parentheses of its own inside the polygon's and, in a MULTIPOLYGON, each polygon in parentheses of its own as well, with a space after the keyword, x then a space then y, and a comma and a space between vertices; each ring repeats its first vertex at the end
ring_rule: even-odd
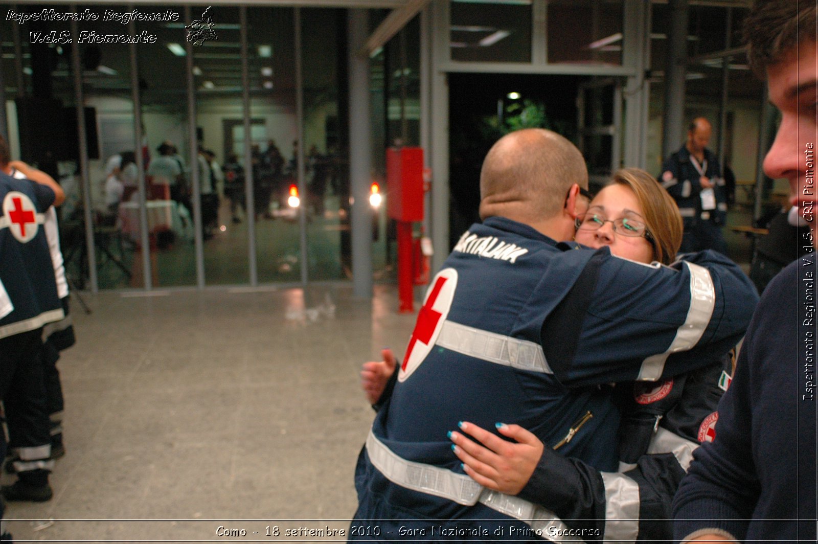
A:
POLYGON ((92 313, 72 300, 78 344, 58 363, 67 454, 52 501, 8 505, 16 541, 267 542, 277 525, 313 542, 333 537, 285 529, 348 528, 373 417, 359 366, 400 351, 415 318, 394 286, 371 300, 331 286, 82 296, 92 313))

